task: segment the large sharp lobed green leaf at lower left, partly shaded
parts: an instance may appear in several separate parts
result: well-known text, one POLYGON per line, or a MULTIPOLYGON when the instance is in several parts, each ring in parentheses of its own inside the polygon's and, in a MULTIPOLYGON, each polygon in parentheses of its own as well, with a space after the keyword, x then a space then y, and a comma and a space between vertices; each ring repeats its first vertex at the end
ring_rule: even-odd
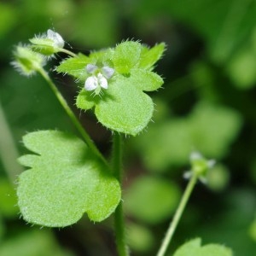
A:
POLYGON ((21 173, 17 189, 26 221, 50 227, 76 223, 84 212, 93 221, 107 218, 120 200, 119 183, 78 137, 61 131, 37 131, 23 137, 35 154, 20 157, 31 169, 21 173))

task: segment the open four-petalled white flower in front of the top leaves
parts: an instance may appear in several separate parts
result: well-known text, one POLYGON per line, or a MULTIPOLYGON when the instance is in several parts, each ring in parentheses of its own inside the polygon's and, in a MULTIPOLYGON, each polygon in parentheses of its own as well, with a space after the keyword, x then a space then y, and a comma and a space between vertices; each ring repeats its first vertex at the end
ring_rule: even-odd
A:
POLYGON ((114 73, 114 69, 112 67, 104 66, 99 68, 94 64, 88 64, 85 69, 87 73, 92 74, 85 80, 85 90, 95 90, 95 93, 99 94, 102 88, 108 89, 108 79, 110 79, 114 73))

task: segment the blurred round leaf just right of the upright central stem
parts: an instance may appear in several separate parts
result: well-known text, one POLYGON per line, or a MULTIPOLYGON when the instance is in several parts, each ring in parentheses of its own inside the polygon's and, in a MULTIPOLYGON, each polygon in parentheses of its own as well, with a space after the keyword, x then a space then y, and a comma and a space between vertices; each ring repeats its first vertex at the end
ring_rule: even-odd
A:
POLYGON ((174 183, 155 177, 139 177, 125 193, 125 212, 148 224, 171 218, 180 191, 174 183))

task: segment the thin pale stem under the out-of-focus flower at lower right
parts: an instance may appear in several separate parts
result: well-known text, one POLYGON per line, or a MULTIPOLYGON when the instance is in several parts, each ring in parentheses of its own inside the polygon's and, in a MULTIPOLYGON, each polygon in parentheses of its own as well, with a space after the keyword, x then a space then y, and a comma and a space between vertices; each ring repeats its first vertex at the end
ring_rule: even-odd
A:
POLYGON ((179 206, 177 207, 177 211, 175 212, 175 215, 172 219, 172 223, 169 226, 169 229, 166 232, 166 236, 160 246, 160 250, 157 253, 157 256, 164 256, 167 250, 168 245, 170 244, 171 240, 172 240, 172 236, 177 228, 177 224, 183 214, 184 208, 186 207, 188 201, 189 201, 189 197, 192 193, 192 190, 195 187, 195 183, 197 181, 198 176, 196 174, 193 174, 193 176, 190 178, 189 180, 189 184, 187 186, 187 188, 185 189, 184 193, 183 193, 183 197, 179 203, 179 206))

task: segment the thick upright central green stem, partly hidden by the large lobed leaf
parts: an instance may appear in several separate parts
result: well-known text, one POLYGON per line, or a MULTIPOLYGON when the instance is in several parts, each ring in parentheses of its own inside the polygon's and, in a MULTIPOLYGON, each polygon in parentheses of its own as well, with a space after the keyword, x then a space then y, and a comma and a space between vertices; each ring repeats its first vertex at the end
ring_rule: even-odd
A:
MULTIPOLYGON (((119 183, 122 181, 122 146, 122 137, 119 134, 113 134, 113 174, 119 183)), ((119 256, 129 256, 125 244, 125 219, 122 200, 114 212, 114 230, 119 256)))

